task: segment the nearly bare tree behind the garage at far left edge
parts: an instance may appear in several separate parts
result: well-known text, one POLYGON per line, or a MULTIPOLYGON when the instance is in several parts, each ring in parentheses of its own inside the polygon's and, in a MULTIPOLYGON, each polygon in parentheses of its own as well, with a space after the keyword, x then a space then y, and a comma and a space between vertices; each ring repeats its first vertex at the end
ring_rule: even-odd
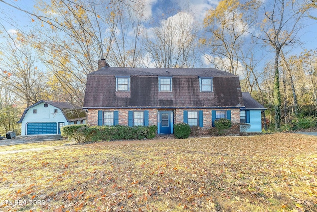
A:
POLYGON ((38 102, 44 94, 45 77, 36 66, 35 52, 29 45, 29 38, 15 31, 5 33, 0 43, 0 82, 9 85, 10 92, 23 99, 27 106, 38 102))

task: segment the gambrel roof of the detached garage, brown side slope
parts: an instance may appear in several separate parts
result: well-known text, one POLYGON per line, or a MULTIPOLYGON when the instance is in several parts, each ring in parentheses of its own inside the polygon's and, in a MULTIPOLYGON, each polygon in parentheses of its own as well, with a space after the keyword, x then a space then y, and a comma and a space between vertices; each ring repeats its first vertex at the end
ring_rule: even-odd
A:
POLYGON ((28 110, 30 110, 31 108, 33 108, 41 103, 47 103, 47 104, 50 104, 50 105, 60 109, 62 111, 62 113, 64 114, 65 118, 67 119, 67 121, 69 121, 69 122, 87 119, 86 112, 84 110, 82 110, 82 108, 80 108, 80 107, 73 106, 72 104, 69 104, 67 102, 54 102, 54 101, 41 100, 41 101, 31 105, 30 107, 25 108, 25 110, 21 116, 21 119, 17 123, 21 123, 23 121, 28 110))

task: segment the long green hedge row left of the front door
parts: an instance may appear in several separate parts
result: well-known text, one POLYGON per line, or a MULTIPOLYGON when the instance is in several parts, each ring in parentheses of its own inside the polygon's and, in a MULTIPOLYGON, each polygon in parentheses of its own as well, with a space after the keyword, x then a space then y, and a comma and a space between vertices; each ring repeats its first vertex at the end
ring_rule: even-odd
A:
POLYGON ((112 141, 121 139, 153 139, 157 126, 92 126, 67 125, 61 128, 61 135, 78 143, 112 141))

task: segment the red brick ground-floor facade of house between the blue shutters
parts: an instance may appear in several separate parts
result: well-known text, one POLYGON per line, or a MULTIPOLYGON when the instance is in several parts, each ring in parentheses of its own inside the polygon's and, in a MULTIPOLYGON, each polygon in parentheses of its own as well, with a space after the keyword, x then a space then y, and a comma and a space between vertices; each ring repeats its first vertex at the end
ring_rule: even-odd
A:
MULTIPOLYGON (((162 110, 157 109, 104 109, 103 111, 119 111, 119 125, 128 125, 128 111, 149 111, 149 125, 157 125, 158 117, 157 112, 162 110)), ((166 109, 173 111, 174 113, 174 124, 184 122, 184 110, 187 111, 203 111, 203 128, 199 128, 199 134, 208 134, 209 129, 212 127, 212 110, 227 111, 229 109, 166 109)), ((98 125, 98 109, 88 109, 87 123, 89 126, 98 125)), ((238 108, 230 109, 231 111, 231 122, 235 125, 240 122, 240 110, 238 108)))

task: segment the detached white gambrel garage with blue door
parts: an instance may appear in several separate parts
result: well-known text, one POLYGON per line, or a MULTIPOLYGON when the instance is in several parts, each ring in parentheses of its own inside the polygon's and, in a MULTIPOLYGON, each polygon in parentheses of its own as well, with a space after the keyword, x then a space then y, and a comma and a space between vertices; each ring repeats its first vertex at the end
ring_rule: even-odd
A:
POLYGON ((21 135, 60 134, 60 128, 71 124, 86 124, 87 113, 66 102, 41 100, 26 108, 18 121, 21 135))

